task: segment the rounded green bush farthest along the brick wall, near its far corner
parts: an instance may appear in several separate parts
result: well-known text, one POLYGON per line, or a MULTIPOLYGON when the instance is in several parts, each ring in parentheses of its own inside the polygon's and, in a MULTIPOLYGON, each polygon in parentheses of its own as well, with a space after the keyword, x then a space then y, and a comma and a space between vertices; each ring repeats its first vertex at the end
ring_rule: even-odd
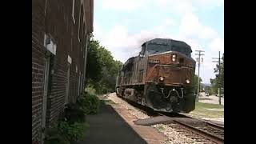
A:
POLYGON ((86 114, 98 114, 100 101, 96 95, 84 93, 78 97, 78 105, 86 114))

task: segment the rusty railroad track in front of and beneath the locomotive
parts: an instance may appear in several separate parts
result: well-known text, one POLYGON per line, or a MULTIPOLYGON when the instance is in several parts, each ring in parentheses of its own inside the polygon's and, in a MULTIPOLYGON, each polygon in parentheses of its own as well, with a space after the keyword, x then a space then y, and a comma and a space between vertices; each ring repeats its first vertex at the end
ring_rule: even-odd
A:
POLYGON ((169 123, 169 126, 199 143, 224 143, 224 126, 192 118, 186 114, 156 112, 146 106, 141 106, 134 102, 129 103, 142 110, 143 113, 148 114, 151 118, 158 116, 171 118, 170 122, 165 121, 164 123, 169 123))

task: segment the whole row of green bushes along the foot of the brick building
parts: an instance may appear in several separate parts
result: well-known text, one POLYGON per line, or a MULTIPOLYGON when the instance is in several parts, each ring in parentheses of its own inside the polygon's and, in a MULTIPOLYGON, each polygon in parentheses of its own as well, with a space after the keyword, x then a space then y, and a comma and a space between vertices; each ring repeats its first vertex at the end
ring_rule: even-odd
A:
POLYGON ((82 140, 89 125, 86 114, 97 114, 100 101, 94 94, 81 94, 76 103, 67 105, 61 121, 46 130, 46 144, 70 144, 82 140))

